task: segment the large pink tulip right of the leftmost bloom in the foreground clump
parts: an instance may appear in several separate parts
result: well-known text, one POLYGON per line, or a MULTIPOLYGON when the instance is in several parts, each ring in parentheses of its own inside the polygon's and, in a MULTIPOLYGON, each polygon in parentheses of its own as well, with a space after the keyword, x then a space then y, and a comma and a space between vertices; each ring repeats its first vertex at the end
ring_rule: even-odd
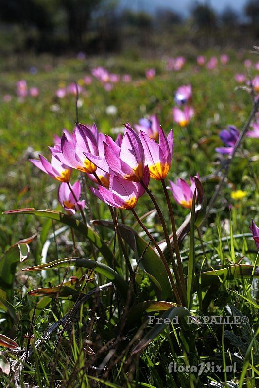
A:
POLYGON ((84 153, 99 155, 98 136, 99 133, 95 124, 91 129, 84 124, 76 124, 75 133, 70 139, 63 133, 61 138, 63 161, 76 170, 88 174, 94 173, 96 165, 84 153))

